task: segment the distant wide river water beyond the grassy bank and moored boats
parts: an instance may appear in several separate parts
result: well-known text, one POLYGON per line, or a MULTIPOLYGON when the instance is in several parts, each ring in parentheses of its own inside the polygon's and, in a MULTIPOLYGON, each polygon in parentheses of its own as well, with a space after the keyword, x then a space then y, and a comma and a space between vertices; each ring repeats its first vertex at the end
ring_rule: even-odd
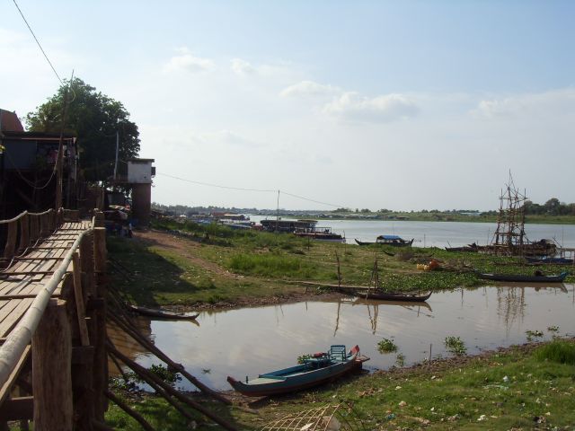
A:
MULTIPOLYGON (((251 216, 259 222, 261 216, 251 216)), ((272 217, 269 217, 272 218, 272 217)), ((333 232, 344 235, 348 243, 376 241, 383 234, 399 235, 405 240, 414 238, 414 246, 456 247, 475 242, 491 243, 497 228, 494 223, 465 222, 410 222, 396 220, 321 220, 318 226, 332 227, 333 232)), ((574 224, 526 224, 527 238, 531 241, 553 239, 562 247, 575 247, 574 224)))

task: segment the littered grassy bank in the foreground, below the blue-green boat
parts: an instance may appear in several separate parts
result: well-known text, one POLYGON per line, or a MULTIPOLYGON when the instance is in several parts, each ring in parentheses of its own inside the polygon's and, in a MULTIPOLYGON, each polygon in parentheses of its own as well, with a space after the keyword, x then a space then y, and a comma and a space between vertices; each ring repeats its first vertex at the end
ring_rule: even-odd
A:
MULTIPOLYGON (((209 407, 220 409, 240 429, 257 429, 290 413, 343 400, 353 403, 370 430, 572 429, 575 343, 555 340, 351 376, 315 391, 259 401, 249 410, 212 402, 209 407)), ((128 397, 128 402, 157 429, 190 429, 153 396, 128 397)), ((107 421, 116 429, 138 429, 117 408, 112 407, 107 421)))

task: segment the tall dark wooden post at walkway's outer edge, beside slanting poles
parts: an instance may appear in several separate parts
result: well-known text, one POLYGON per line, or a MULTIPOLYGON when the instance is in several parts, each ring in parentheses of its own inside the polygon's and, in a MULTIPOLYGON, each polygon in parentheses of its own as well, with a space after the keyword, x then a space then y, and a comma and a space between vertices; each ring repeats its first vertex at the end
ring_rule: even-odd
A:
MULTIPOLYGON (((95 297, 106 297, 106 229, 95 227, 93 230, 93 268, 96 277, 95 297)), ((106 307, 96 310, 93 315, 95 347, 93 357, 93 391, 95 418, 103 422, 104 413, 108 409, 108 399, 104 391, 108 389, 108 354, 106 351, 106 307)))

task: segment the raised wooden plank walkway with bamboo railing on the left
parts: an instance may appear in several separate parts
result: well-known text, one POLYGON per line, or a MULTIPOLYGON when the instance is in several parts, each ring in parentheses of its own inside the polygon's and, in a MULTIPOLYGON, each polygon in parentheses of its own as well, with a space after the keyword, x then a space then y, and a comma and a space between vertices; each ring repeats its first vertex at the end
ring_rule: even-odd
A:
MULTIPOLYGON (((86 238, 86 231, 93 228, 93 222, 61 221, 60 218, 59 223, 56 222, 51 226, 48 224, 40 226, 40 222, 34 225, 33 216, 35 215, 28 215, 31 220, 20 217, 17 221, 8 221, 11 224, 18 224, 18 228, 10 225, 6 244, 0 244, 2 251, 4 251, 4 259, 2 259, 4 268, 0 270, 0 348, 4 350, 4 347, 8 348, 10 345, 11 351, 17 351, 17 354, 14 354, 10 361, 4 360, 4 356, 0 359, 0 365, 4 369, 6 363, 9 363, 7 365, 8 377, 4 382, 4 374, 4 384, 0 387, 0 426, 2 422, 7 420, 31 420, 36 414, 34 410, 39 407, 35 404, 39 402, 44 404, 44 400, 41 400, 45 398, 44 394, 40 395, 40 390, 44 388, 41 384, 37 384, 36 379, 39 376, 34 376, 34 374, 39 374, 36 369, 40 370, 41 365, 46 364, 48 366, 50 359, 49 357, 42 357, 41 364, 37 364, 37 355, 38 352, 45 349, 41 340, 46 339, 48 343, 51 334, 58 332, 58 326, 55 327, 47 322, 51 319, 51 317, 46 317, 47 313, 54 314, 55 309, 61 309, 63 311, 61 314, 66 316, 64 326, 71 329, 65 328, 66 339, 59 340, 70 345, 67 350, 69 354, 67 360, 66 357, 64 360, 60 357, 59 348, 53 350, 59 344, 54 345, 52 343, 50 346, 46 344, 49 346, 49 351, 52 352, 49 353, 49 356, 58 356, 58 361, 60 361, 49 365, 52 368, 49 374, 66 375, 73 373, 71 365, 76 364, 77 367, 80 364, 81 366, 86 358, 89 358, 89 363, 95 362, 91 357, 94 356, 94 347, 90 346, 93 343, 90 343, 89 336, 93 336, 93 340, 98 339, 98 337, 94 334, 95 329, 91 327, 88 330, 86 324, 86 322, 89 324, 91 319, 88 316, 86 320, 86 304, 88 299, 96 296, 90 295, 89 290, 86 291, 86 287, 90 289, 90 286, 95 286, 93 279, 93 233, 90 234, 89 238, 86 238), (53 229, 54 227, 56 228, 53 229), (11 234, 10 229, 17 233, 11 234), (31 234, 28 230, 31 231, 31 234), (81 236, 83 238, 79 240, 81 236), (16 237, 20 238, 18 250, 14 245, 16 237), (84 258, 89 259, 89 262, 84 268, 81 268, 78 251, 82 252, 81 245, 83 243, 84 250, 86 248, 89 250, 87 253, 84 252, 84 258), (71 254, 74 244, 75 252, 71 254), (76 266, 78 268, 75 269, 76 266), (85 272, 80 272, 80 269, 84 269, 85 272), (86 272, 92 281, 86 277, 86 272), (54 286, 56 287, 54 288, 54 286), (50 301, 48 305, 50 312, 45 309, 46 305, 43 307, 37 305, 42 295, 50 301), (40 324, 38 330, 34 329, 34 325, 31 325, 31 329, 28 328, 29 322, 33 320, 31 318, 33 314, 36 314, 35 318, 39 321, 36 326, 40 324), (28 332, 30 335, 26 338, 29 342, 21 353, 21 349, 13 348, 13 345, 17 344, 13 340, 21 339, 24 332, 28 332), (33 346, 37 346, 34 347, 36 350, 32 348, 33 346), (31 360, 31 356, 34 356, 34 361, 31 360), (34 387, 33 394, 32 386, 34 387), (37 387, 40 389, 37 390, 37 387)), ((93 291, 93 289, 92 287, 91 290, 93 291)), ((93 323, 99 322, 97 318, 92 318, 92 320, 93 323)), ((103 342, 102 339, 100 344, 103 342)), ((66 348, 63 350, 66 351, 66 348)), ((90 365, 89 368, 92 368, 92 364, 90 365)), ((44 371, 45 373, 46 371, 44 371)), ((42 378, 46 378, 47 375, 42 378)), ((74 375, 71 374, 71 377, 74 379, 74 375)), ((68 386, 72 390, 72 386, 68 386)), ((71 424, 72 416, 67 416, 70 416, 68 422, 71 424)), ((39 428, 49 429, 50 427, 52 426, 40 426, 39 428)), ((68 427, 62 429, 65 428, 68 427)))

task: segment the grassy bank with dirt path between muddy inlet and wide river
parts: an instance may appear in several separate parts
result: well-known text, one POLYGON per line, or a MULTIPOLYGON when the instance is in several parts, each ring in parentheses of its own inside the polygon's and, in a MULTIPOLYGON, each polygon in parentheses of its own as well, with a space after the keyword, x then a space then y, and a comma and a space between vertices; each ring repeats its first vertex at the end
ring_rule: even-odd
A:
MULTIPOLYGON (((473 270, 528 275, 535 269, 522 259, 437 248, 358 247, 191 223, 155 227, 164 231, 108 241, 115 283, 139 304, 190 306, 301 295, 305 288, 296 281, 337 283, 338 260, 341 284, 367 286, 377 259, 380 286, 394 291, 483 284, 473 270), (440 270, 417 269, 430 259, 438 259, 440 270)), ((564 269, 549 266, 544 272, 564 269)))

